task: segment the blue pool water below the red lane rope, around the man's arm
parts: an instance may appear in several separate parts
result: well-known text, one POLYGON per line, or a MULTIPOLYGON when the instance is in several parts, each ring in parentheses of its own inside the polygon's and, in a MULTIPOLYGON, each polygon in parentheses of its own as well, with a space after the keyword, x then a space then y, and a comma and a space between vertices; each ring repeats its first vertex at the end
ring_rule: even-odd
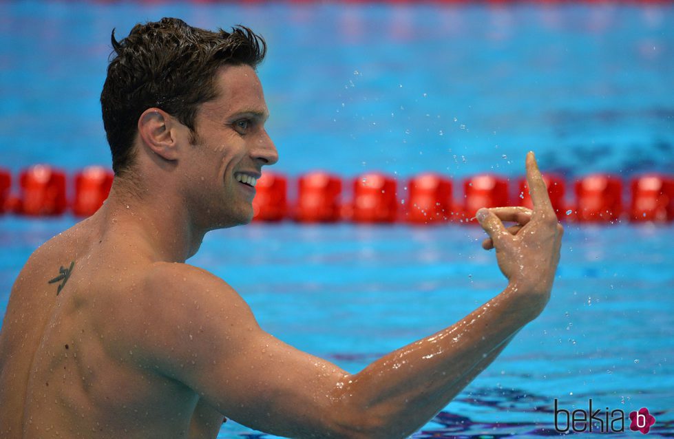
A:
MULTIPOLYGON (((2 308, 30 251, 73 223, 0 220, 2 308)), ((547 436, 555 398, 626 414, 648 407, 651 433, 674 436, 674 276, 664 269, 673 236, 671 226, 567 226, 547 309, 414 437, 547 436)), ((358 372, 501 291, 482 237, 459 225, 253 224, 211 233, 191 263, 227 279, 268 332, 358 372)), ((240 435, 272 437, 232 421, 220 437, 240 435)))

